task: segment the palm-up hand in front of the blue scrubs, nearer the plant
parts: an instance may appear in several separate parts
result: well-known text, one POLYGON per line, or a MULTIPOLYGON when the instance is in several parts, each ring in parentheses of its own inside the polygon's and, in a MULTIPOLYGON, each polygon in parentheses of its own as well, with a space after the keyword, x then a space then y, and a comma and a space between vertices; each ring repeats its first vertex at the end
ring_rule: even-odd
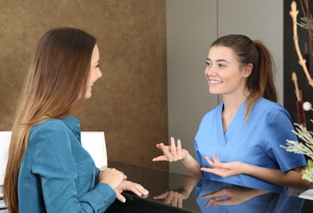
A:
POLYGON ((237 174, 243 174, 245 163, 239 161, 232 161, 228 163, 221 163, 220 159, 212 154, 213 161, 207 156, 204 157, 212 168, 201 168, 201 171, 217 174, 222 177, 229 177, 237 174))

